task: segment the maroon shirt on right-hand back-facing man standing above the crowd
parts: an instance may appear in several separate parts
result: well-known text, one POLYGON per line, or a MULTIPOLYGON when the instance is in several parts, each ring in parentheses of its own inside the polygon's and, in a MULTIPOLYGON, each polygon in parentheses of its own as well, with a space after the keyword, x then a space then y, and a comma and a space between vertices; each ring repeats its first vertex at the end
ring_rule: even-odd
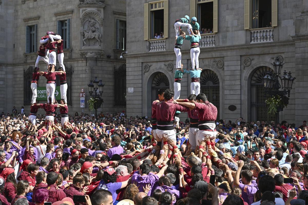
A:
POLYGON ((217 118, 217 108, 209 101, 204 103, 195 103, 196 110, 198 110, 199 124, 202 121, 215 121, 217 118))

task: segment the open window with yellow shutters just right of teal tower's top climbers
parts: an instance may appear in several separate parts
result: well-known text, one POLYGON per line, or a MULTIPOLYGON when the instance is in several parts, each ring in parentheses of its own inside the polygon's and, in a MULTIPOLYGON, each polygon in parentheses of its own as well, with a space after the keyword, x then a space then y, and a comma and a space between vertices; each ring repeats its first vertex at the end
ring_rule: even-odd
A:
MULTIPOLYGON (((190 2, 190 13, 195 14, 195 2, 190 2)), ((200 33, 218 32, 218 0, 197 0, 197 21, 200 25, 200 33)), ((192 15, 190 18, 192 18, 192 15)))

